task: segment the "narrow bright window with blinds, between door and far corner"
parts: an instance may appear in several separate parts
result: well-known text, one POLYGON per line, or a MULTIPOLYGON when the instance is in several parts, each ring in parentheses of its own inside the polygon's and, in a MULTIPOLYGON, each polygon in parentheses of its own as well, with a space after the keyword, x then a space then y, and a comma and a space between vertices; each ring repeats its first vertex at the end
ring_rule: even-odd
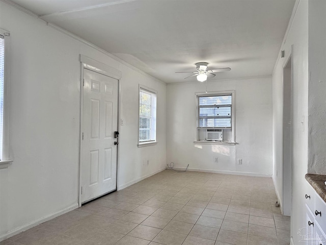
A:
POLYGON ((139 87, 139 146, 156 142, 156 94, 152 89, 139 87))

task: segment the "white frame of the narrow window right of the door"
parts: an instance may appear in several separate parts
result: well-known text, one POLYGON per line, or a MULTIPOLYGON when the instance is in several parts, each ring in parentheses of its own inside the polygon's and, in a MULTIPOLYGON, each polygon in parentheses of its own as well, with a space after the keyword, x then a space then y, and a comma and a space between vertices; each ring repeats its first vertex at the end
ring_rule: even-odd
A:
POLYGON ((143 146, 149 146, 149 145, 155 145, 157 144, 157 91, 149 88, 144 85, 139 85, 138 89, 138 147, 143 146), (155 105, 152 105, 151 112, 153 109, 155 109, 155 113, 151 115, 151 139, 147 141, 140 141, 139 135, 140 135, 140 104, 141 104, 141 91, 147 91, 151 94, 155 95, 155 105), (154 137, 153 137, 154 133, 154 137))

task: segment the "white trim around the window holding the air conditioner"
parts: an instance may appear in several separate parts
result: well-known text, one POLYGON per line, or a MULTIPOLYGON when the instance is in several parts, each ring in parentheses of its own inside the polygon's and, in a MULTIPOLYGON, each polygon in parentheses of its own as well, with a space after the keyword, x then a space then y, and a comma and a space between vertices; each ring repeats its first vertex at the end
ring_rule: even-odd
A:
POLYGON ((235 90, 225 90, 225 91, 212 91, 212 92, 197 92, 195 93, 195 100, 196 100, 196 140, 194 143, 196 144, 228 144, 228 145, 235 145, 235 90), (208 141, 208 140, 198 140, 198 125, 199 125, 199 100, 198 97, 201 95, 211 95, 211 96, 222 96, 222 95, 229 95, 232 96, 232 105, 231 105, 231 141, 208 141))

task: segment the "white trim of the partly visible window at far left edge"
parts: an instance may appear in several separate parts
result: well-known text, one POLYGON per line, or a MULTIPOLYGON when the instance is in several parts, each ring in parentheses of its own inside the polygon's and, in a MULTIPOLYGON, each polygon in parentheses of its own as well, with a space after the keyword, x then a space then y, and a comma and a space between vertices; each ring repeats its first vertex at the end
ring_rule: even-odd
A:
POLYGON ((0 164, 1 168, 7 168, 13 160, 9 155, 9 82, 10 82, 10 32, 0 29, 0 35, 4 36, 5 40, 5 68, 4 68, 4 105, 3 105, 3 152, 0 164))

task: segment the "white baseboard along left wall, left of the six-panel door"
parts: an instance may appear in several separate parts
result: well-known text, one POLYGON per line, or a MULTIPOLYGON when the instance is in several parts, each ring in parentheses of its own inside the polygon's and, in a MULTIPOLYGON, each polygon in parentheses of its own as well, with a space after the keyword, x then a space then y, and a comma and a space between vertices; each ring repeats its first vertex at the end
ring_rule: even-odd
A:
POLYGON ((44 222, 46 222, 46 221, 48 221, 48 220, 50 220, 52 218, 58 217, 58 216, 60 216, 60 215, 62 215, 64 213, 67 213, 67 212, 69 212, 71 210, 74 210, 76 208, 78 208, 78 204, 77 203, 76 204, 73 204, 73 205, 71 205, 71 206, 69 206, 67 208, 64 208, 64 209, 62 209, 62 210, 60 210, 58 212, 51 213, 51 214, 46 215, 46 216, 44 216, 42 218, 36 219, 36 220, 34 220, 34 221, 32 221, 32 222, 30 222, 28 224, 25 224, 23 226, 17 227, 15 229, 11 230, 11 231, 8 231, 5 234, 1 234, 0 235, 0 241, 6 240, 9 237, 12 237, 14 235, 17 235, 20 232, 26 231, 26 230, 28 230, 30 228, 33 228, 33 227, 35 227, 35 226, 37 226, 37 225, 39 225, 41 223, 44 223, 44 222))

